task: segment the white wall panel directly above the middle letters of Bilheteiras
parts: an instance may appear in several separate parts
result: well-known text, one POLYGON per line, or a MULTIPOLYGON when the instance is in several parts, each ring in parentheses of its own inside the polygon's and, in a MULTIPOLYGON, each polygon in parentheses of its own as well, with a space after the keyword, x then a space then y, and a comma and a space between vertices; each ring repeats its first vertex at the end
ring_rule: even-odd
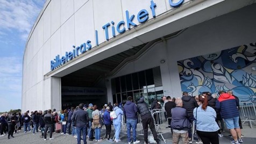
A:
POLYGON ((66 21, 65 24, 61 26, 60 55, 65 55, 66 52, 73 51, 74 44, 75 44, 75 26, 74 26, 74 16, 72 16, 66 21))

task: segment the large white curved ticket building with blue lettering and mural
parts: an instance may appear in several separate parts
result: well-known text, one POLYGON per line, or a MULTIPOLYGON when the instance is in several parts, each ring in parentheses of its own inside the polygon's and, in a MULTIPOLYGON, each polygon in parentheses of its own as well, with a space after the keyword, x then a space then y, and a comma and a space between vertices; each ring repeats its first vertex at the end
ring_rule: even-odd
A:
POLYGON ((26 43, 22 111, 181 91, 255 102, 255 3, 48 0, 26 43))

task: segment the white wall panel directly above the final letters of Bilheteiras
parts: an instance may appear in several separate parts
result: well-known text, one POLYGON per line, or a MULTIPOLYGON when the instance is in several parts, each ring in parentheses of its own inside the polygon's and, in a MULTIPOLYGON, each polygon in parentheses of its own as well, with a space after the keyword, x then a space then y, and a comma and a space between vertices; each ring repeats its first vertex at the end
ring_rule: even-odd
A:
POLYGON ((80 46, 91 41, 91 45, 95 46, 94 37, 94 17, 93 17, 93 1, 89 1, 75 13, 75 45, 80 46))

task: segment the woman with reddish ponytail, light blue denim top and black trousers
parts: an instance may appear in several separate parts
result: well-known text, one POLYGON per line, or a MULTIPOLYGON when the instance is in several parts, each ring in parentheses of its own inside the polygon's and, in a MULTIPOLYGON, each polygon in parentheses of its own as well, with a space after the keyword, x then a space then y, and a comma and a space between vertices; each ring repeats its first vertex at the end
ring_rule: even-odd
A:
POLYGON ((193 111, 196 119, 196 132, 204 144, 219 144, 215 110, 208 106, 207 96, 199 95, 196 98, 199 107, 193 111))

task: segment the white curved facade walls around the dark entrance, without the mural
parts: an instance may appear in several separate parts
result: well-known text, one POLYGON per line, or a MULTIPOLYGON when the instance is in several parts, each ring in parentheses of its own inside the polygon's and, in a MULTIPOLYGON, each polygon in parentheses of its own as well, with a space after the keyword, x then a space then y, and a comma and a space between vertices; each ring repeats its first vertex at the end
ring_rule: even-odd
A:
POLYGON ((160 67, 163 94, 178 97, 182 88, 177 61, 255 42, 254 3, 249 0, 186 0, 173 8, 168 0, 48 0, 35 21, 25 48, 22 111, 60 110, 61 77, 159 38, 162 40, 155 41, 137 59, 127 61, 116 73, 99 80, 99 85, 105 86, 107 100, 113 102, 111 78, 160 67), (141 10, 148 15, 143 16, 143 12, 139 13, 141 10), (127 18, 131 19, 132 15, 134 19, 130 21, 129 29, 127 18), (106 37, 106 27, 103 29, 108 23, 109 38, 106 37), (115 27, 115 37, 112 26, 115 27), (122 31, 124 28, 125 32, 122 31), (183 31, 176 37, 165 38, 180 30, 183 31), (66 52, 73 52, 76 50, 73 46, 81 46, 88 40, 91 49, 83 54, 77 49, 77 55, 72 53, 73 59, 69 60, 66 52), (64 56, 65 60, 63 58, 62 66, 53 66, 51 61, 56 62, 54 59, 58 55, 60 59, 64 56), (165 62, 161 63, 161 60, 165 62))

